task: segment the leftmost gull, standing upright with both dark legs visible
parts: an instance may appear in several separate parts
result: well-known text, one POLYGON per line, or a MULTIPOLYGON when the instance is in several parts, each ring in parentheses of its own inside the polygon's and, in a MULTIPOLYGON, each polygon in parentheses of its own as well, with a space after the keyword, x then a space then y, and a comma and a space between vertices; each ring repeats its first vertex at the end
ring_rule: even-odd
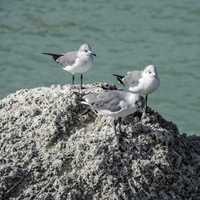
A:
POLYGON ((83 85, 83 73, 87 72, 94 64, 94 56, 89 44, 82 44, 78 51, 67 53, 42 53, 50 55, 53 59, 64 66, 64 70, 72 74, 72 84, 74 84, 75 74, 81 74, 81 88, 83 85))

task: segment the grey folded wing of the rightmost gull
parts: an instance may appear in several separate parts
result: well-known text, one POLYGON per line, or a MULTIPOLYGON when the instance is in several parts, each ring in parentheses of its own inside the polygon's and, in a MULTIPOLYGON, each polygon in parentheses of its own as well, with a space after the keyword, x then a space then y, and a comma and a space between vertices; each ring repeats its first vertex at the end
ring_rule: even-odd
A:
POLYGON ((128 86, 135 86, 138 84, 139 79, 142 77, 142 71, 128 72, 124 77, 123 82, 128 86))

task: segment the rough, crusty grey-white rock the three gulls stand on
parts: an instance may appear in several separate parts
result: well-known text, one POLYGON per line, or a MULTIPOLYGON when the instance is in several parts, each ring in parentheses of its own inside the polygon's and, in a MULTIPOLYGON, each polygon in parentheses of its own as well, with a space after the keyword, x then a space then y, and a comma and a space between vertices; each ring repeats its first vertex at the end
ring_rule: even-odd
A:
MULTIPOLYGON (((87 85, 83 93, 101 92, 87 85)), ((148 110, 111 121, 77 88, 20 90, 0 101, 0 199, 198 200, 200 139, 148 110)))

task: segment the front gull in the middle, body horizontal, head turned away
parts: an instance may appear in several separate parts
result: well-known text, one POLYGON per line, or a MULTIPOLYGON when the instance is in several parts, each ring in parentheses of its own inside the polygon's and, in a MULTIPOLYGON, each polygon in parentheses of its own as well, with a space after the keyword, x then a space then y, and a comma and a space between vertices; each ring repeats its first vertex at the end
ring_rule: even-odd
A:
POLYGON ((89 105, 99 115, 111 117, 114 124, 114 132, 119 122, 121 132, 121 118, 124 118, 144 107, 144 98, 139 94, 124 90, 106 90, 99 94, 87 94, 83 96, 83 104, 89 105))

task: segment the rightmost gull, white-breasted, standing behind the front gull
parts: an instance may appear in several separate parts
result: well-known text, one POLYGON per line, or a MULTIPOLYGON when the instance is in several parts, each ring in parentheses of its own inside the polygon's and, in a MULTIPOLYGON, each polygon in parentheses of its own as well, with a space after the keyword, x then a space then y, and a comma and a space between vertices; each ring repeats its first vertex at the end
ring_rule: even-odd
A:
POLYGON ((143 71, 127 72, 125 76, 113 74, 117 80, 134 93, 145 95, 144 114, 147 112, 147 97, 160 86, 160 79, 155 65, 148 65, 143 71))

